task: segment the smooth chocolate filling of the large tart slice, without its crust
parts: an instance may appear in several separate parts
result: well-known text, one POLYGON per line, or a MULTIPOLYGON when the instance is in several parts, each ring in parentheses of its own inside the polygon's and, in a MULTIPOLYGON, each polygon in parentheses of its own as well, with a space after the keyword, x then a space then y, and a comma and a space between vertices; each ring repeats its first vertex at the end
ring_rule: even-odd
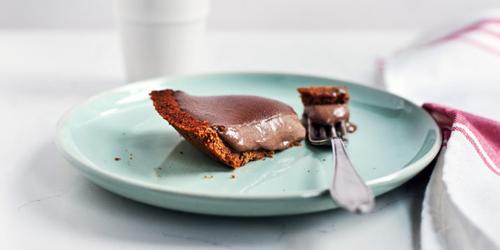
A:
POLYGON ((215 126, 220 138, 238 152, 280 150, 306 136, 292 107, 259 96, 192 96, 175 91, 180 109, 215 126))

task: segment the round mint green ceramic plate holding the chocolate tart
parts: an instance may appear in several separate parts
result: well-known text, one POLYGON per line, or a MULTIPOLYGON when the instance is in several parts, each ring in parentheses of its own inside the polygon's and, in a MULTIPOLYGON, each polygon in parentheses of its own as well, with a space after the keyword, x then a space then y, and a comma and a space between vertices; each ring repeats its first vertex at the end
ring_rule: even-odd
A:
POLYGON ((333 209, 327 191, 331 148, 303 142, 272 159, 231 170, 183 140, 157 114, 148 95, 152 89, 171 88, 195 95, 265 96, 301 115, 296 89, 311 85, 349 88, 350 120, 358 129, 350 135, 348 154, 376 195, 403 184, 436 156, 438 126, 417 105, 350 82, 274 73, 161 78, 113 89, 67 112, 57 125, 56 142, 92 182, 150 205, 224 216, 333 209))

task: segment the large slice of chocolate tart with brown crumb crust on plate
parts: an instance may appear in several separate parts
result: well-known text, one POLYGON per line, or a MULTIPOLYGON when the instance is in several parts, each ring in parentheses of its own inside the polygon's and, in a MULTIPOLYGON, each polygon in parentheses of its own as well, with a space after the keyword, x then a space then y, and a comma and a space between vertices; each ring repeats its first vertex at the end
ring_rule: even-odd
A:
POLYGON ((176 131, 211 159, 231 168, 299 145, 306 136, 297 113, 259 96, 192 96, 152 91, 155 109, 176 131))

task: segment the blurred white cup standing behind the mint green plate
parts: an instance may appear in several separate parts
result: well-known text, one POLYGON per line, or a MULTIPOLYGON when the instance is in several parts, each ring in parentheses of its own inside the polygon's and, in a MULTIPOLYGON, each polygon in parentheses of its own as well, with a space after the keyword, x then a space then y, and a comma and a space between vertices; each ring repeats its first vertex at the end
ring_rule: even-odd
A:
POLYGON ((129 82, 196 71, 209 0, 115 0, 129 82))

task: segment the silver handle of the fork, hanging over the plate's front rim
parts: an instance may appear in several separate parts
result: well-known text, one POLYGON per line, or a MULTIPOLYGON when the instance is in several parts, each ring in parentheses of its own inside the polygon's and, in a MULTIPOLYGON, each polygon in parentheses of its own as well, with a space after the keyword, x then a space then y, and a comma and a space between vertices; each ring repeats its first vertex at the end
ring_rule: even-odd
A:
POLYGON ((366 186, 354 166, 340 138, 330 138, 334 154, 330 195, 340 207, 358 214, 370 212, 375 205, 371 189, 366 186))

